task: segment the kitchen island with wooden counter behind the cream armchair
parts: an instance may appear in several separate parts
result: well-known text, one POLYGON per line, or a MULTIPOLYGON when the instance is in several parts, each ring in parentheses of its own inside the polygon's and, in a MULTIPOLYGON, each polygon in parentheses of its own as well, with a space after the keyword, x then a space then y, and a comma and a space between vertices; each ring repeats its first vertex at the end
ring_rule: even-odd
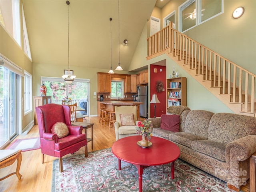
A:
POLYGON ((143 104, 142 102, 134 102, 134 101, 101 101, 101 104, 105 106, 106 109, 110 111, 115 111, 115 106, 137 106, 137 118, 140 117, 140 104, 143 104))

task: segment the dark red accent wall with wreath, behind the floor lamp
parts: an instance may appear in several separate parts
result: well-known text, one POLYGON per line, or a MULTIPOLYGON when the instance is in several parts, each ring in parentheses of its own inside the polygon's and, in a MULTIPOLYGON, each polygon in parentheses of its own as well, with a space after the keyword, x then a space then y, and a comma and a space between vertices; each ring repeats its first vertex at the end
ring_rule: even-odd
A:
MULTIPOLYGON (((165 60, 163 61, 165 63, 165 60)), ((166 114, 166 66, 159 65, 150 65, 150 101, 152 99, 152 95, 156 94, 160 103, 156 103, 156 117, 160 117, 162 114, 166 114), (156 68, 156 73, 154 73, 154 69, 156 68), (162 69, 162 72, 160 72, 162 69), (157 92, 156 84, 158 81, 162 81, 164 83, 164 91, 157 92)), ((154 104, 150 103, 150 117, 154 117, 154 104)))

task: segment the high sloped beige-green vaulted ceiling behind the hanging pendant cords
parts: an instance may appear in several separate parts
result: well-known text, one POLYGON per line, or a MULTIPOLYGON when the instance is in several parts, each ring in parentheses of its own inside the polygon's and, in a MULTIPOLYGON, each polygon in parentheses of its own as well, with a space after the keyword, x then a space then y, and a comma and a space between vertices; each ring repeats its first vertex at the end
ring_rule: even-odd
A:
MULTIPOLYGON (((157 2, 158 6, 163 6, 157 2)), ((141 32, 156 0, 120 0, 120 63, 128 70, 141 32), (122 42, 128 40, 128 46, 122 42)), ((68 66, 66 0, 23 0, 33 65, 68 66)), ((112 68, 118 65, 118 0, 70 0, 69 51, 72 66, 112 68)))

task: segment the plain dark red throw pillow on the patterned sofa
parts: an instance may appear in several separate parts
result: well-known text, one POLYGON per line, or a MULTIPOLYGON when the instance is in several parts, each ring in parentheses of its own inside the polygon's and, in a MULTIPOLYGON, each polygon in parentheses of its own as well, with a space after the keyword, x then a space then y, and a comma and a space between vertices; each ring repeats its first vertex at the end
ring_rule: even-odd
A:
POLYGON ((179 115, 161 115, 160 128, 172 132, 179 132, 180 116, 179 115))

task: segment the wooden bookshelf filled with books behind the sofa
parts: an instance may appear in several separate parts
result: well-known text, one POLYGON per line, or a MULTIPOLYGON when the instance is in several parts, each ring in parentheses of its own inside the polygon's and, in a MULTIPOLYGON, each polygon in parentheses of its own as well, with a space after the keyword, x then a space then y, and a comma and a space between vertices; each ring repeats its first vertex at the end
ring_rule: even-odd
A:
POLYGON ((166 79, 166 106, 187 105, 186 77, 166 79))

